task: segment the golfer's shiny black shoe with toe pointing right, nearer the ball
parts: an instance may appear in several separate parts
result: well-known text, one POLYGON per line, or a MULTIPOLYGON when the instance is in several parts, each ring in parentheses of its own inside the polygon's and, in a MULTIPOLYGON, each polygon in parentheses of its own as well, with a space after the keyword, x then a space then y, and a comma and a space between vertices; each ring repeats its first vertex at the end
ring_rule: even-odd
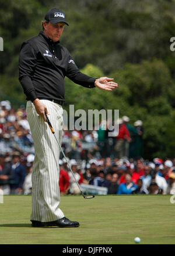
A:
POLYGON ((44 226, 57 226, 57 227, 79 227, 78 221, 71 221, 66 217, 61 218, 60 220, 43 222, 44 226))

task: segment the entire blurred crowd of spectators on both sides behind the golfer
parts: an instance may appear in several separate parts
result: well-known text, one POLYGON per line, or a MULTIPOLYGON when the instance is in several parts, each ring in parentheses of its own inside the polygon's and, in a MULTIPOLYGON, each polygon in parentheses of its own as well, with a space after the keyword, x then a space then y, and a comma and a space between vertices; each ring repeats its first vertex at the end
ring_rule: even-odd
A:
MULTIPOLYGON (((62 148, 79 184, 107 187, 108 194, 175 194, 175 159, 147 161, 137 155, 131 158, 131 134, 139 141, 133 152, 142 151, 142 121, 136 121, 132 127, 129 118, 124 116, 119 124, 116 137, 108 137, 102 124, 98 131, 64 129, 62 148)), ((34 145, 24 106, 15 111, 9 101, 1 101, 0 188, 3 194, 31 193, 33 162, 34 145)), ((59 183, 61 194, 79 194, 62 155, 59 183)))

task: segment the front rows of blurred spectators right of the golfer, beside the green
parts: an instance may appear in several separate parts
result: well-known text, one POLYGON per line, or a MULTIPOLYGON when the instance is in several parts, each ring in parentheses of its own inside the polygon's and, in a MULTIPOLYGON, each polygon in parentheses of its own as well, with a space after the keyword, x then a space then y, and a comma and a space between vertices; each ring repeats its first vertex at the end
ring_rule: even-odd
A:
MULTIPOLYGON (((108 194, 175 194, 175 159, 90 159, 86 173, 82 173, 83 168, 75 159, 70 163, 79 184, 107 187, 108 194)), ((65 159, 60 165, 68 171, 65 159)), ((68 190, 68 182, 64 193, 79 193, 77 186, 68 190)))

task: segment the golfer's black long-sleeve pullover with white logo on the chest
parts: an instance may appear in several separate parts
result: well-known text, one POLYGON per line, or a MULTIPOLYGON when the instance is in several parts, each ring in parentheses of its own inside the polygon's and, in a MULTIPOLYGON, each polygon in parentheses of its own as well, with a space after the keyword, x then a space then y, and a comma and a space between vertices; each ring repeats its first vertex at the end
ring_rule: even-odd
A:
POLYGON ((19 81, 26 100, 48 98, 64 102, 64 78, 83 87, 95 87, 96 78, 81 73, 69 51, 43 32, 23 42, 19 54, 19 81))

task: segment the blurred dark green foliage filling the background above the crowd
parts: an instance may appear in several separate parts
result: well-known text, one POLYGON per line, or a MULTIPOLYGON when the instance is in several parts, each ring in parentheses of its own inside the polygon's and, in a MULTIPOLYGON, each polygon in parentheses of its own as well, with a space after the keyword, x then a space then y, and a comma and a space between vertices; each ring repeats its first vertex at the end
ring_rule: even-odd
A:
POLYGON ((119 109, 131 124, 142 120, 144 157, 174 157, 174 0, 0 0, 0 97, 25 101, 18 81, 22 42, 36 36, 48 9, 65 11, 69 27, 61 44, 83 73, 113 77, 113 92, 88 90, 65 78, 65 108, 119 109))

